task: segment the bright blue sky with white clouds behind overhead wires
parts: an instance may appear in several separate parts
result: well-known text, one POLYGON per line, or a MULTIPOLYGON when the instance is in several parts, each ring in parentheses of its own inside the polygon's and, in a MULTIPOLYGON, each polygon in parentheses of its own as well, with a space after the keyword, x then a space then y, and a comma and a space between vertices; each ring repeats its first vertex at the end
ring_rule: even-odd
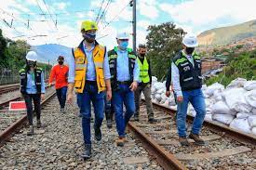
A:
MULTIPOLYGON (((32 46, 73 47, 82 40, 81 22, 96 20, 99 16, 97 40, 112 48, 116 46, 116 33, 132 33, 129 2, 0 0, 0 28, 8 38, 24 39, 32 46)), ((187 33, 199 34, 212 28, 256 20, 255 7, 256 0, 137 0, 137 46, 146 43, 149 25, 171 21, 187 33)), ((129 46, 132 46, 131 40, 130 36, 129 46)))

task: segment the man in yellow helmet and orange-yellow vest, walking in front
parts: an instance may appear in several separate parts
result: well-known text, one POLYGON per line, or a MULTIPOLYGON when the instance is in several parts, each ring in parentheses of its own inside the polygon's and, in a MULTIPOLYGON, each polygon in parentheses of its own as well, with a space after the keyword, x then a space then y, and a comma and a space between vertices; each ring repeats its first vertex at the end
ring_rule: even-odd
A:
POLYGON ((91 155, 90 111, 93 104, 95 113, 95 139, 101 140, 101 124, 104 118, 104 96, 112 98, 110 70, 106 48, 95 41, 98 26, 94 21, 82 22, 81 33, 84 40, 73 50, 74 58, 69 60, 68 101, 77 94, 77 105, 82 116, 82 129, 85 142, 84 159, 91 155))

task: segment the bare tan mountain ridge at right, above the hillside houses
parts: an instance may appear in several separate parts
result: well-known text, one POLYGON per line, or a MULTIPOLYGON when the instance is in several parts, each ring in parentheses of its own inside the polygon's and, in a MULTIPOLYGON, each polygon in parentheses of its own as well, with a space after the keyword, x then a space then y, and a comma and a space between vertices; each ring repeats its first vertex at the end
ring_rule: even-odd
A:
POLYGON ((256 20, 229 27, 215 28, 200 33, 197 38, 201 46, 217 46, 232 44, 253 36, 256 36, 256 20))

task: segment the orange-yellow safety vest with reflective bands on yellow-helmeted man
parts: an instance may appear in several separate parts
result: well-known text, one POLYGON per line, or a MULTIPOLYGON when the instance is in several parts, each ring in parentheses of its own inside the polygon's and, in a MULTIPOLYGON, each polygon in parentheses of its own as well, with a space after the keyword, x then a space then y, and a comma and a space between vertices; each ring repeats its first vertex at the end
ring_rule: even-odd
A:
MULTIPOLYGON (((76 93, 83 93, 86 85, 86 75, 88 59, 86 54, 82 50, 83 42, 76 48, 73 49, 73 55, 75 60, 75 75, 74 75, 74 88, 76 93)), ((106 89, 103 62, 105 56, 106 48, 95 43, 95 47, 92 51, 93 62, 96 72, 96 82, 98 86, 98 92, 104 91, 106 89)))

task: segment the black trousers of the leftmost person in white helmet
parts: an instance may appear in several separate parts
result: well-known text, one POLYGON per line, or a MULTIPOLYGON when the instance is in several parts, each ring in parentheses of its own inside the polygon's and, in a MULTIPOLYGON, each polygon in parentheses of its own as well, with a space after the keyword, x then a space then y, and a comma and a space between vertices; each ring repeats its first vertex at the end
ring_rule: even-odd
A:
POLYGON ((26 107, 27 107, 27 116, 29 120, 29 124, 33 125, 33 104, 34 102, 34 111, 36 112, 37 121, 40 120, 41 115, 41 94, 23 94, 23 98, 25 99, 26 107))

